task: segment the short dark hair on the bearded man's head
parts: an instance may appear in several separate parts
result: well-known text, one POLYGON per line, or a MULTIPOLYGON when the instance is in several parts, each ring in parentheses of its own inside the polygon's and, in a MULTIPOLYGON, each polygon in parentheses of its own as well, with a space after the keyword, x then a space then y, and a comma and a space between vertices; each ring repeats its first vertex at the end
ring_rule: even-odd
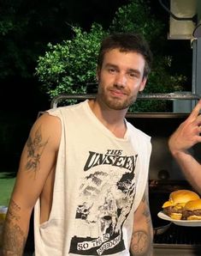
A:
POLYGON ((105 37, 98 54, 98 68, 102 67, 104 54, 109 50, 120 49, 121 52, 138 52, 145 58, 144 77, 151 71, 152 53, 146 40, 139 34, 115 33, 105 37))

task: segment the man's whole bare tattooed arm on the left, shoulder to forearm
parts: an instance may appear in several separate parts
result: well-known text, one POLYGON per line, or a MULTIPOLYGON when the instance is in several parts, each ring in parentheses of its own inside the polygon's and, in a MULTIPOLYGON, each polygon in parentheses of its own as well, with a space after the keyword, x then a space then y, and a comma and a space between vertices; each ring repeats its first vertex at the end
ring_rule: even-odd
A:
POLYGON ((50 214, 52 180, 61 136, 59 119, 44 113, 33 125, 21 154, 21 162, 3 228, 3 256, 23 255, 33 207, 46 194, 41 206, 44 220, 50 214), (48 189, 47 189, 48 187, 48 189), (45 201, 46 200, 46 201, 45 201), (45 204, 46 203, 46 204, 45 204))

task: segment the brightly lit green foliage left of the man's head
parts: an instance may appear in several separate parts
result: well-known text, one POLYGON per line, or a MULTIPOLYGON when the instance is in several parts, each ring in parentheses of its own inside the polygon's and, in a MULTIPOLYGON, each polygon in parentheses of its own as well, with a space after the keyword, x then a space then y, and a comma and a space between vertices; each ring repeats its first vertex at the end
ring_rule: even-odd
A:
POLYGON ((98 24, 89 33, 72 27, 74 37, 62 44, 49 44, 49 52, 38 58, 36 74, 50 99, 59 94, 86 93, 86 84, 96 82, 98 49, 106 34, 98 24))

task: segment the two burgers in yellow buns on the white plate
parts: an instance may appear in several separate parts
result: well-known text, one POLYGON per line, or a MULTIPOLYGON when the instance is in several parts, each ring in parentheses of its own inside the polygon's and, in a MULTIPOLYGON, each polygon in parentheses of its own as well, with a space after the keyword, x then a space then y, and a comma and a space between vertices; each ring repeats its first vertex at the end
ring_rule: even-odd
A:
POLYGON ((163 204, 163 213, 175 220, 201 220, 201 198, 190 190, 177 190, 169 194, 163 204))

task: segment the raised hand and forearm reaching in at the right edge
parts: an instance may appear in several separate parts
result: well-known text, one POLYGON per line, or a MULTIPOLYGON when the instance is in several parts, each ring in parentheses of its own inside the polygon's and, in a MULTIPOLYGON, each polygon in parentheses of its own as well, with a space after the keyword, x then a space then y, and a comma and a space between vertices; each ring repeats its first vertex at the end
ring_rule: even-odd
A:
POLYGON ((168 140, 169 149, 181 170, 186 175, 186 180, 201 193, 201 165, 191 155, 189 149, 201 142, 201 100, 192 110, 189 117, 174 131, 168 140))

